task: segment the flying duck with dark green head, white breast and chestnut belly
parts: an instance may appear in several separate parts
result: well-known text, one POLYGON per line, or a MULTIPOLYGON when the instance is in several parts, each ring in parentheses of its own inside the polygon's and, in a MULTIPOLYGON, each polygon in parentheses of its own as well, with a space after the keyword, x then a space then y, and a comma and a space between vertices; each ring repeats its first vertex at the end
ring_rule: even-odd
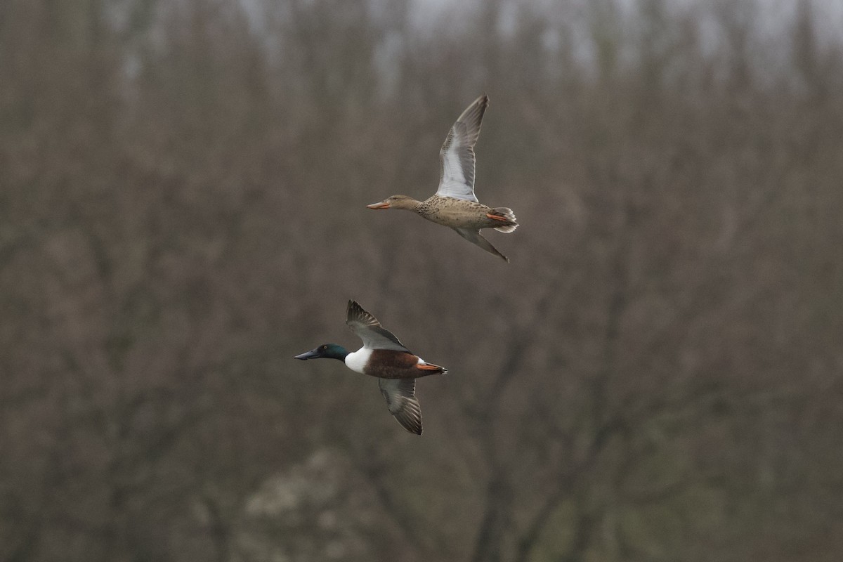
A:
POLYGON ((416 378, 443 375, 448 369, 413 355, 392 332, 380 325, 377 318, 355 301, 348 301, 346 324, 363 340, 359 350, 352 353, 341 345, 323 344, 295 358, 339 359, 352 371, 378 377, 378 386, 389 412, 405 430, 421 435, 421 406, 416 399, 416 378))

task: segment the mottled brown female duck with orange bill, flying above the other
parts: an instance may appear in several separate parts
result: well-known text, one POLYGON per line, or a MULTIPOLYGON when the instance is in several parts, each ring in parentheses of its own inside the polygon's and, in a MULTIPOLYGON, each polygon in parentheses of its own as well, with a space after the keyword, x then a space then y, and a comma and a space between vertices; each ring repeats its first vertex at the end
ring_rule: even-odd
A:
POLYGON ((481 95, 463 111, 463 115, 459 115, 457 122, 448 131, 442 150, 439 151, 439 189, 436 194, 427 201, 416 201, 407 195, 392 195, 384 201, 368 205, 368 208, 413 211, 428 221, 454 228, 470 243, 509 261, 507 256, 483 238, 480 229, 513 232, 518 227, 513 210, 509 207, 482 205, 474 193, 474 147, 488 106, 489 96, 481 95))

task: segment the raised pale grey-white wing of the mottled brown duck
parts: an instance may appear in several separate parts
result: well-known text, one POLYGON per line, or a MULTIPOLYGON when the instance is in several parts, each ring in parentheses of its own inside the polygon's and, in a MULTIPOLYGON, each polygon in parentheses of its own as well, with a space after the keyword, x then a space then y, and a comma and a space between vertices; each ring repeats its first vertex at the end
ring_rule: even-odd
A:
POLYGON ((474 146, 480 136, 483 114, 489 106, 489 96, 481 95, 470 104, 448 136, 439 151, 439 189, 436 195, 454 197, 466 201, 477 201, 474 194, 475 154, 474 146))

